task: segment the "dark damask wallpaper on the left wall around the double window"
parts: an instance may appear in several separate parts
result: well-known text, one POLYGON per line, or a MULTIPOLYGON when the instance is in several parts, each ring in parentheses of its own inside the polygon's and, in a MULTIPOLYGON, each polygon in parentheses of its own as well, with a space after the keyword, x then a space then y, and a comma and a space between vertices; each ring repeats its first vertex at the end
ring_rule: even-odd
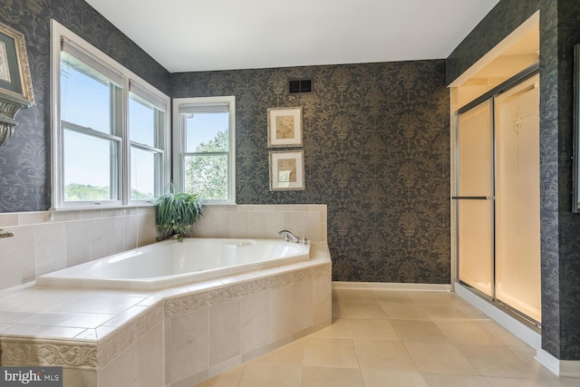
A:
POLYGON ((82 0, 3 0, 0 22, 24 34, 36 105, 0 147, 0 212, 51 207, 50 23, 55 19, 169 94, 169 72, 82 0))

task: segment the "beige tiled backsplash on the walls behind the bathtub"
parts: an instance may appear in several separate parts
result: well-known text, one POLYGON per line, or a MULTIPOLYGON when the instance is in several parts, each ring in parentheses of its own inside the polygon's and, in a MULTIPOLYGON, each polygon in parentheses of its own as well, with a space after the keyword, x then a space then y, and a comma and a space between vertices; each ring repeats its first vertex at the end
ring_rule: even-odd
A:
MULTIPOLYGON (((289 229, 326 241, 325 205, 206 206, 196 237, 276 238, 289 229)), ((155 208, 0 213, 0 289, 155 242, 155 208)))

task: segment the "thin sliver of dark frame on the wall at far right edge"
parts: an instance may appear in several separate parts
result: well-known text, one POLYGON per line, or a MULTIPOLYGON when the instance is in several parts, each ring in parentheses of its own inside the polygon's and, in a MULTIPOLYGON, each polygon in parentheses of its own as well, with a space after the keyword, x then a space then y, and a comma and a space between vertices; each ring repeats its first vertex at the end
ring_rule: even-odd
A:
POLYGON ((574 46, 574 166, 572 212, 580 213, 580 44, 574 46))

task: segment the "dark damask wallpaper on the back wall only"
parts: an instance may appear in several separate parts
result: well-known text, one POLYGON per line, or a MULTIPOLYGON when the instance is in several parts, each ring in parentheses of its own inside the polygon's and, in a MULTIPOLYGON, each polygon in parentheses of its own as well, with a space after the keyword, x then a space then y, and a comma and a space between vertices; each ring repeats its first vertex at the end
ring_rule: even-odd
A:
POLYGON ((324 203, 333 279, 449 284, 445 62, 171 75, 175 98, 235 95, 238 204, 324 203), (288 94, 288 79, 314 92, 288 94), (267 108, 304 108, 304 191, 269 191, 267 108))

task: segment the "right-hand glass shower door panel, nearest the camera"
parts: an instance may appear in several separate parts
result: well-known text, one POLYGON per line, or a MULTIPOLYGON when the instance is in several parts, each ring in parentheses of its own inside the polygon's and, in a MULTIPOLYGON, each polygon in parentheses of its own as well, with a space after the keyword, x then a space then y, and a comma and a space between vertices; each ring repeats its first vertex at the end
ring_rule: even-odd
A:
POLYGON ((496 297, 541 322, 538 83, 495 100, 496 297))

